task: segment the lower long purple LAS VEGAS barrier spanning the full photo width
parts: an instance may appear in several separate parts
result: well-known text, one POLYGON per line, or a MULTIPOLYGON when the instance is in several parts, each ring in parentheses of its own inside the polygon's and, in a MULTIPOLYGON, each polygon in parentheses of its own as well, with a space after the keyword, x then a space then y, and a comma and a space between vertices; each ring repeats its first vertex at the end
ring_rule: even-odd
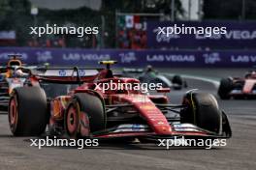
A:
POLYGON ((0 62, 7 63, 8 54, 22 54, 28 65, 49 63, 58 66, 99 67, 98 61, 116 60, 116 67, 250 68, 256 65, 256 50, 121 50, 0 47, 0 62))

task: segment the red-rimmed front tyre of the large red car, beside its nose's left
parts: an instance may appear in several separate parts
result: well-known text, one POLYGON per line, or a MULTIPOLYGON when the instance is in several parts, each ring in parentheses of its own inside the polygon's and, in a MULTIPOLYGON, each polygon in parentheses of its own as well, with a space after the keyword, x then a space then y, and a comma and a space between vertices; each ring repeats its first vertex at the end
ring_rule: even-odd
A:
POLYGON ((106 126, 106 116, 102 99, 95 95, 76 94, 65 113, 65 129, 69 137, 87 136, 106 126))

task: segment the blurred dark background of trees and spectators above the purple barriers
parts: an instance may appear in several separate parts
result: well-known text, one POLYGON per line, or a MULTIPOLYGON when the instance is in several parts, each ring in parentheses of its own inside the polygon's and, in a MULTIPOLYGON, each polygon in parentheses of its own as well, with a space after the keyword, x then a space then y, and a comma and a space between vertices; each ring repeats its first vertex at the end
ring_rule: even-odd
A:
POLYGON ((255 6, 253 0, 1 0, 0 45, 141 49, 148 47, 149 20, 253 19, 255 6), (31 14, 32 8, 38 14, 31 14), (98 25, 101 34, 40 39, 28 34, 29 25, 47 23, 98 25))

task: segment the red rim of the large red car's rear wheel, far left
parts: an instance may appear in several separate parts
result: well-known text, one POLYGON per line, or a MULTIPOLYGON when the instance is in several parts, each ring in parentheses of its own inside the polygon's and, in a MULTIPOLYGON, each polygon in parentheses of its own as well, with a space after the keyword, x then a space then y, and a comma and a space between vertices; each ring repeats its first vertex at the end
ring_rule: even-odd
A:
POLYGON ((16 109, 16 99, 13 98, 10 101, 10 112, 9 112, 9 119, 10 119, 10 127, 12 131, 16 130, 17 124, 17 109, 16 109))

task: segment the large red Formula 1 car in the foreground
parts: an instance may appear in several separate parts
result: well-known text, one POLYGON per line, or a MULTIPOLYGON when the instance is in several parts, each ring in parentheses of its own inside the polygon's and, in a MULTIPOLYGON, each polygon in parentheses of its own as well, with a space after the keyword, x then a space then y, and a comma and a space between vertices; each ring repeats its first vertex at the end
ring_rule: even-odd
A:
MULTIPOLYGON (((98 73, 77 73, 70 77, 46 77, 48 83, 80 84, 67 94, 48 98, 39 87, 16 88, 9 104, 10 127, 14 135, 41 135, 47 125, 50 134, 97 138, 231 137, 226 114, 209 94, 188 92, 182 104, 170 104, 165 95, 150 96, 140 90, 104 89, 105 85, 137 85, 135 78, 112 73, 112 61, 98 73)), ((86 72, 86 71, 85 71, 86 72)), ((158 89, 166 93, 168 89, 158 89)))

